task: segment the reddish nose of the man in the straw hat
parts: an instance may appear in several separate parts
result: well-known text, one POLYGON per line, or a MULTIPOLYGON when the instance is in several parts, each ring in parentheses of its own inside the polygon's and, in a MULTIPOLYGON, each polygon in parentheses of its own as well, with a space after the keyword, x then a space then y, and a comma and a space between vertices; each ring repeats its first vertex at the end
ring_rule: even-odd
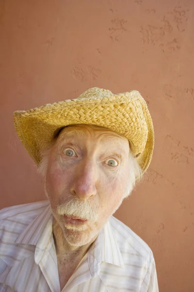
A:
POLYGON ((82 163, 77 169, 71 187, 71 194, 80 199, 91 199, 97 194, 97 167, 93 162, 82 163))

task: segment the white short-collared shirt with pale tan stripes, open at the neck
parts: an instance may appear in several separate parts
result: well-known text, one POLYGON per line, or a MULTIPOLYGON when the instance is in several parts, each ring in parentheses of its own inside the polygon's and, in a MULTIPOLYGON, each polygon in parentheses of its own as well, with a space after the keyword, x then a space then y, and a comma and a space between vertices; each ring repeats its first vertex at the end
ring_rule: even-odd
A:
MULTIPOLYGON (((60 292, 48 201, 0 211, 0 292, 60 292)), ((109 219, 62 292, 158 292, 153 254, 109 219)))

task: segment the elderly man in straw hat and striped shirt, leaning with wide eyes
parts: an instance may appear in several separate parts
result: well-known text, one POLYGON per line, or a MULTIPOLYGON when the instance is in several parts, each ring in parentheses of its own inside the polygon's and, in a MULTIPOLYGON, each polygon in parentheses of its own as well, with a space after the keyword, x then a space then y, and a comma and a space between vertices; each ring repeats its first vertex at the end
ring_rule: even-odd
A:
POLYGON ((14 118, 48 200, 1 210, 0 292, 158 292, 150 248, 112 216, 152 157, 140 93, 92 88, 14 118))

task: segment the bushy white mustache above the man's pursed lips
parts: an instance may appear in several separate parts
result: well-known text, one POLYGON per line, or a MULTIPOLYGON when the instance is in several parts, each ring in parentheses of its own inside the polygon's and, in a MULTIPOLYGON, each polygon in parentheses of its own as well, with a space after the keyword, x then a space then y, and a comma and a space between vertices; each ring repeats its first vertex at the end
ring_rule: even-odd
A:
POLYGON ((97 206, 94 208, 87 200, 80 200, 79 198, 69 196, 57 206, 56 211, 58 215, 67 215, 69 217, 78 217, 82 220, 97 222, 97 209, 97 206))

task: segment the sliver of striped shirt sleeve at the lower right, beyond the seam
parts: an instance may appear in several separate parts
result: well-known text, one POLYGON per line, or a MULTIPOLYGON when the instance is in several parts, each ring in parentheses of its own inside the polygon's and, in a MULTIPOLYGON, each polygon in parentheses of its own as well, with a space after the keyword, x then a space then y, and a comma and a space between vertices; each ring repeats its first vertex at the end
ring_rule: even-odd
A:
POLYGON ((153 255, 151 256, 149 267, 142 283, 140 292, 159 292, 156 265, 153 255))

